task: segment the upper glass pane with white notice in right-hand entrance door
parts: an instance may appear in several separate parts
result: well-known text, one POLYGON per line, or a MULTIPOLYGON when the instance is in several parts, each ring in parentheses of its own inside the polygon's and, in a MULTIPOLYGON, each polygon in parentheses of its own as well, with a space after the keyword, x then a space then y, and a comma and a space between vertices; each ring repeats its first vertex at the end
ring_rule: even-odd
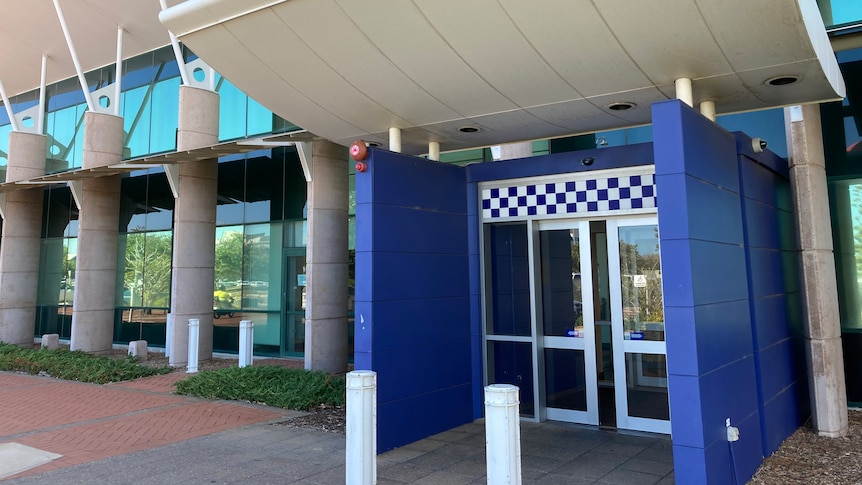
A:
POLYGON ((619 228, 625 340, 664 341, 658 226, 619 228))

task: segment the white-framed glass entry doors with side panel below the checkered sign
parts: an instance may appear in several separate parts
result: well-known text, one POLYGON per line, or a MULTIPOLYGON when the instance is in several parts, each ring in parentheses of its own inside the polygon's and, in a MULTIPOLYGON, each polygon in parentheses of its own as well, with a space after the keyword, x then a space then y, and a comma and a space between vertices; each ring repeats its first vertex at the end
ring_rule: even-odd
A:
POLYGON ((670 433, 654 216, 485 227, 488 383, 521 415, 670 433))

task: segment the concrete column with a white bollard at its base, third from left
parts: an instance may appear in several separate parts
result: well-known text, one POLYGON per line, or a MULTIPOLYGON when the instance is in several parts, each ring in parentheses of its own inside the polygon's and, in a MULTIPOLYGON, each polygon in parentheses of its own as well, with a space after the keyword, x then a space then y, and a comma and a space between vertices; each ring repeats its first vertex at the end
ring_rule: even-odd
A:
MULTIPOLYGON (((218 143, 218 93, 180 87, 177 151, 218 143)), ((181 163, 174 206, 170 365, 188 364, 189 319, 199 323, 198 357, 212 358, 218 159, 181 163)))

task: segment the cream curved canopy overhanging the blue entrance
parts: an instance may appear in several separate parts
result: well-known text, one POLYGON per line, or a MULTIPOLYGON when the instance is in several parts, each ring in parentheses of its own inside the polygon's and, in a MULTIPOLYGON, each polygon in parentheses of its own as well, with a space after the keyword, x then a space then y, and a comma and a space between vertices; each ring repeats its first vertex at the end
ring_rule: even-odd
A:
POLYGON ((649 123, 677 78, 719 114, 844 96, 815 0, 189 0, 161 20, 280 116, 342 144, 401 128, 407 153, 649 123))

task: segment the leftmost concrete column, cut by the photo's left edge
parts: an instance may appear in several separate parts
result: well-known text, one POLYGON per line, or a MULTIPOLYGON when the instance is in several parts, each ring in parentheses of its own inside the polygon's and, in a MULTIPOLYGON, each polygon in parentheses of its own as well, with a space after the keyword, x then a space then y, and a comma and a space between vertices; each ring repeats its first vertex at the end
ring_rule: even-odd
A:
MULTIPOLYGON (((6 182, 45 174, 45 137, 9 134, 6 182)), ((6 194, 3 242, 0 244, 0 341, 32 346, 36 331, 42 189, 6 194)), ((60 282, 57 282, 59 288, 60 282)))

